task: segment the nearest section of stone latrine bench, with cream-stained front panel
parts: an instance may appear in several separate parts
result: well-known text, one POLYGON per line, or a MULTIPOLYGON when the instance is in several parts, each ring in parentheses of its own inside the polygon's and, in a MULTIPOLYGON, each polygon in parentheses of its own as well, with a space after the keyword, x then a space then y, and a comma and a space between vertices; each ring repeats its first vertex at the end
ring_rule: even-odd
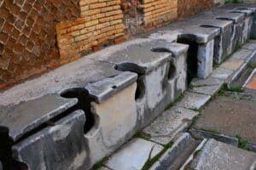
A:
POLYGON ((0 124, 10 138, 19 139, 9 154, 20 166, 90 168, 131 138, 137 122, 137 74, 113 66, 79 59, 1 94, 0 124), (41 126, 49 120, 53 127, 41 126), (73 144, 72 152, 61 150, 73 144), (37 154, 34 148, 44 151, 37 154))

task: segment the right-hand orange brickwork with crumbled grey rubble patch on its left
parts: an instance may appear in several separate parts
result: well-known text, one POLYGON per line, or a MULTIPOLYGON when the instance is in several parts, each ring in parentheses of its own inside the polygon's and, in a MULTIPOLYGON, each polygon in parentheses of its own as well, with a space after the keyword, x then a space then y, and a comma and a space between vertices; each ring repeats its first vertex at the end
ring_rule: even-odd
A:
POLYGON ((177 19, 177 0, 122 0, 121 7, 130 35, 152 31, 177 19))

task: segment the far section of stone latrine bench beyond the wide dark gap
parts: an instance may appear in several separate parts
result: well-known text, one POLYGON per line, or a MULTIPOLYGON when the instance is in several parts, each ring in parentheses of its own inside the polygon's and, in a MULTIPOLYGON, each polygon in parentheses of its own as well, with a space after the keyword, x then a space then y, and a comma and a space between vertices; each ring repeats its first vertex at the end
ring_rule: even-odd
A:
POLYGON ((149 37, 189 43, 190 46, 191 43, 197 43, 197 77, 205 78, 212 73, 212 58, 220 63, 224 57, 246 42, 253 32, 253 13, 255 9, 248 5, 241 8, 237 5, 213 8, 187 20, 162 27, 158 33, 149 37))

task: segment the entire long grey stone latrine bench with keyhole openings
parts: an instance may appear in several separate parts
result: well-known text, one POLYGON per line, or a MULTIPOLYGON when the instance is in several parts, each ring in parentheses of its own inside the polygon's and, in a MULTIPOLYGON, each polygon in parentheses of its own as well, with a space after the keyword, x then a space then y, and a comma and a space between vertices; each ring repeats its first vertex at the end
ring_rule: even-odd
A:
POLYGON ((90 169, 255 37, 255 12, 213 8, 3 91, 0 169, 90 169))

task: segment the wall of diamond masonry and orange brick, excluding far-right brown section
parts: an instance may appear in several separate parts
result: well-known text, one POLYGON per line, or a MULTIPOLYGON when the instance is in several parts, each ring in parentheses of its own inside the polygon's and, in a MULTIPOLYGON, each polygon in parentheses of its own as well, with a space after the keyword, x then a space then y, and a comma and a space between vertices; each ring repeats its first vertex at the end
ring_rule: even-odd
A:
POLYGON ((177 18, 177 0, 0 0, 0 89, 177 18))

